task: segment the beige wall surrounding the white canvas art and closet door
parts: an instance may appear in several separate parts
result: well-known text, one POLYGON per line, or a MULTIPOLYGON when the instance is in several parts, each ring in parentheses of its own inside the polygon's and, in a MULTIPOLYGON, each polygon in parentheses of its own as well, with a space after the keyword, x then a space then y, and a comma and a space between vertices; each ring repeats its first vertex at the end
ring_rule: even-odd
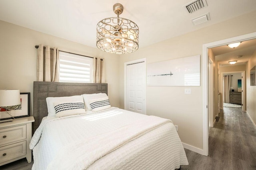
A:
MULTIPOLYGON (((124 108, 124 62, 146 58, 147 63, 201 55, 202 45, 234 36, 255 32, 256 12, 215 24, 182 36, 174 37, 132 54, 120 56, 120 107, 124 108)), ((179 126, 178 134, 185 144, 203 148, 203 106, 202 72, 201 86, 191 87, 191 94, 184 94, 184 88, 177 86, 147 86, 146 112, 170 118, 179 126)))

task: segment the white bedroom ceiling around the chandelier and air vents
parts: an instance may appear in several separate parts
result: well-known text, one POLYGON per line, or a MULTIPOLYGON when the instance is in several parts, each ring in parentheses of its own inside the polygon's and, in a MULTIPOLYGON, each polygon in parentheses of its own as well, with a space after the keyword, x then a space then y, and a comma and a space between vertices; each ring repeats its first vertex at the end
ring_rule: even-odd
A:
POLYGON ((0 20, 96 47, 96 24, 120 15, 140 29, 139 46, 145 47, 256 10, 256 0, 206 0, 208 6, 189 14, 192 0, 0 0, 0 20), (194 26, 192 18, 210 13, 210 20, 194 26))

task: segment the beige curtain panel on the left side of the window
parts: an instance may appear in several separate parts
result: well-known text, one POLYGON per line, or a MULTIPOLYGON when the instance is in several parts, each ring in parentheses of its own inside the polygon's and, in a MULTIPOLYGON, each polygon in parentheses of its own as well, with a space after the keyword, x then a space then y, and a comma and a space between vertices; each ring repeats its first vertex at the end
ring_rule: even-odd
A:
POLYGON ((59 50, 50 46, 39 45, 37 58, 37 80, 44 82, 59 82, 59 50), (45 47, 45 48, 44 48, 45 47))

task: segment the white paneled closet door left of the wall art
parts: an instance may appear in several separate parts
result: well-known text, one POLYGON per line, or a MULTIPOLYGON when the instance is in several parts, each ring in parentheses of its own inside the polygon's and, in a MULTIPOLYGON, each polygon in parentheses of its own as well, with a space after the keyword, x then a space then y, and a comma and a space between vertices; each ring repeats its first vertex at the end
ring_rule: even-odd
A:
POLYGON ((124 109, 146 114, 146 58, 124 64, 124 109))

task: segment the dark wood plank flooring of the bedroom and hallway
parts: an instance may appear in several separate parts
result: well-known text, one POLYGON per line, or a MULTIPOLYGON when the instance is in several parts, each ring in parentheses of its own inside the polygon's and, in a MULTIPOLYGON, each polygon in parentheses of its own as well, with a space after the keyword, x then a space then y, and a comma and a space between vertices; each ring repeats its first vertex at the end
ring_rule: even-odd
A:
MULTIPOLYGON (((189 165, 181 170, 256 170, 256 129, 241 108, 224 108, 210 128, 209 156, 185 149, 189 165)), ((31 170, 26 158, 0 170, 31 170)))

